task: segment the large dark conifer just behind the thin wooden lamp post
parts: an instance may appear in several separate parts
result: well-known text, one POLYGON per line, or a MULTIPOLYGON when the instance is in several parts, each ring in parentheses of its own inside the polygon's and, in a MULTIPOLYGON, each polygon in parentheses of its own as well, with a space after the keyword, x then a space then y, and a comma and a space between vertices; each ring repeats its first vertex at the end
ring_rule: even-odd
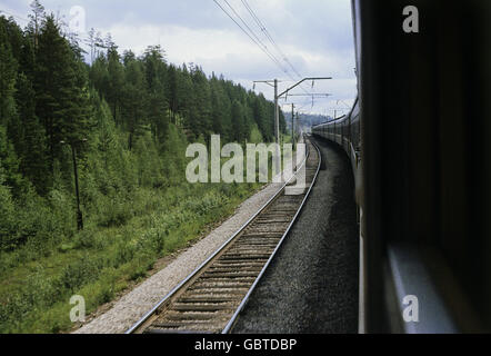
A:
POLYGON ((39 34, 36 65, 36 113, 46 129, 53 172, 54 161, 62 159, 62 144, 79 145, 84 139, 89 117, 83 67, 61 37, 53 16, 46 19, 39 34))

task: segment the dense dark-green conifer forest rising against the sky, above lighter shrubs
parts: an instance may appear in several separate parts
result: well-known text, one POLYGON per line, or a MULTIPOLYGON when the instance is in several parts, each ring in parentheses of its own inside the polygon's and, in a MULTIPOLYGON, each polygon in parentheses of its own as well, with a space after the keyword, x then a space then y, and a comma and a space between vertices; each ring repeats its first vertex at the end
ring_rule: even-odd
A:
MULTIPOLYGON (((154 159, 178 159, 172 145, 208 142, 212 134, 242 144, 252 136, 273 140, 274 105, 262 95, 222 76, 207 77, 193 63, 169 63, 160 46, 141 56, 121 53, 110 36, 97 39, 94 30, 87 62, 89 53, 61 21, 38 0, 31 9, 24 29, 0 17, 0 239, 16 229, 8 220, 16 207, 54 190, 73 191, 72 152, 83 176, 94 165, 109 169, 109 151, 118 162, 130 155, 146 157, 149 147, 154 159), (138 150, 139 145, 147 150, 138 150)), ((280 127, 285 130, 282 112, 280 127)), ((170 185, 169 168, 158 175, 160 182, 152 187, 170 185)), ((137 176, 119 188, 148 180, 142 172, 137 176)))

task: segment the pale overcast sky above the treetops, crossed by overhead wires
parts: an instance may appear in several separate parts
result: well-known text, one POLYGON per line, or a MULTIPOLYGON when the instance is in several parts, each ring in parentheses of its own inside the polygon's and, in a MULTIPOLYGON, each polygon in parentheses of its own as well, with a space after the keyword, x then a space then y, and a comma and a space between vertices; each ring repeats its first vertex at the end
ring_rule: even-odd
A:
MULTIPOLYGON (((236 20, 226 0, 217 0, 236 20)), ((334 80, 303 86, 309 92, 328 92, 329 100, 289 98, 303 112, 333 113, 345 109, 355 97, 354 50, 350 0, 227 0, 255 36, 278 58, 289 75, 298 80, 292 68, 283 61, 268 40, 244 2, 267 28, 281 51, 302 77, 333 77, 334 80), (342 100, 343 102, 338 102, 342 100), (303 107, 303 108, 302 108, 303 107), (328 111, 329 110, 329 111, 328 111)), ((31 0, 0 0, 0 11, 17 16, 26 24, 31 0)), ((41 0, 48 11, 60 13, 70 22, 70 10, 84 10, 84 28, 110 32, 121 52, 131 49, 141 53, 151 44, 161 44, 170 62, 194 62, 211 75, 223 73, 227 79, 252 89, 253 80, 284 80, 280 90, 294 82, 213 2, 213 0, 41 0)), ((4 14, 4 13, 2 13, 4 14)), ((83 22, 83 21, 82 21, 83 22)), ((83 30, 83 23, 82 23, 83 30)), ((84 37, 84 33, 82 33, 84 37)), ((272 88, 258 85, 272 99, 272 88)), ((282 90, 281 90, 282 91, 282 90)), ((304 93, 302 89, 293 91, 304 93)), ((280 101, 284 102, 284 101, 280 101)), ((284 107, 287 109, 287 107, 284 107)))

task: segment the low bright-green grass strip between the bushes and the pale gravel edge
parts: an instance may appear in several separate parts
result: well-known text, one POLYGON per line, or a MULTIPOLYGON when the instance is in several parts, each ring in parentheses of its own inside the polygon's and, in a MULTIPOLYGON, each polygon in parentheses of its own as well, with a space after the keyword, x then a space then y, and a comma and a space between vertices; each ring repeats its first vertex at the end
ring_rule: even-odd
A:
POLYGON ((1 254, 0 333, 69 330, 72 295, 83 296, 87 313, 94 312, 144 278, 159 258, 230 216, 259 187, 183 184, 168 190, 140 189, 131 201, 132 217, 124 222, 103 227, 94 219, 46 254, 29 244, 1 254))

